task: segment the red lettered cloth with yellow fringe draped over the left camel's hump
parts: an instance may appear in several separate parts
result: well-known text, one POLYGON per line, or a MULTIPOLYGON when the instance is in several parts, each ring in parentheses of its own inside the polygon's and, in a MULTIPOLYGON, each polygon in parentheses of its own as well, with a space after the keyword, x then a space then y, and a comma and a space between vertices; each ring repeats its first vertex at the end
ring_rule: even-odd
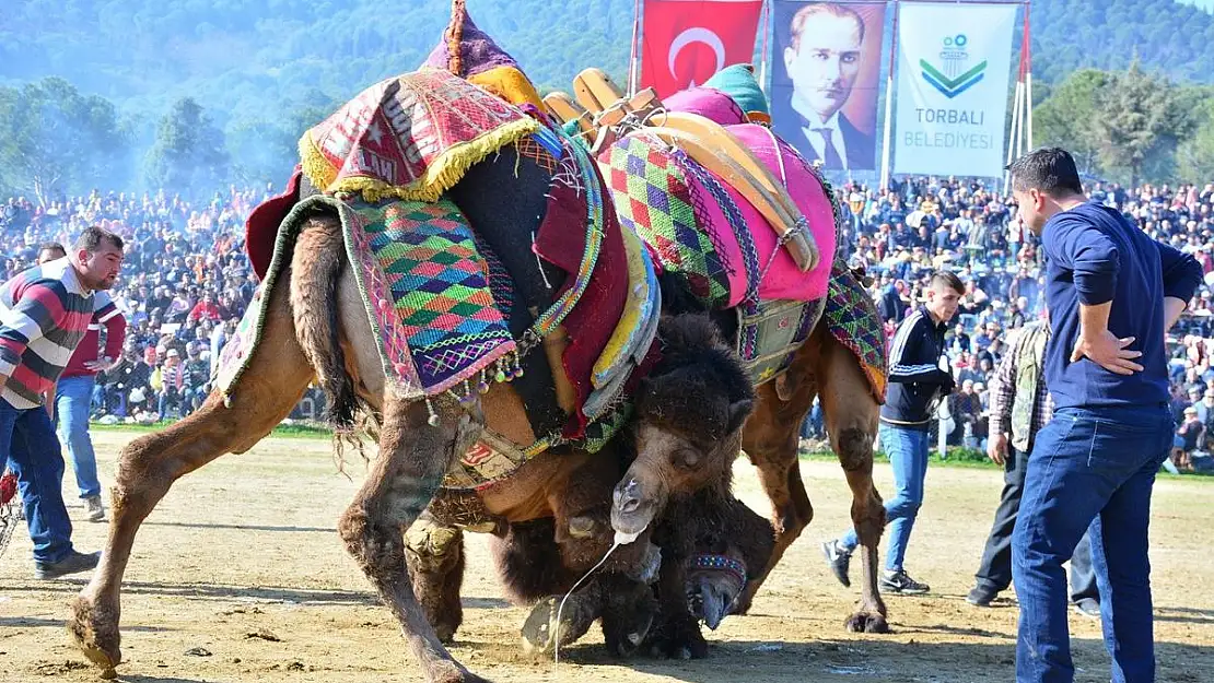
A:
POLYGON ((539 123, 446 69, 380 81, 300 138, 304 173, 327 194, 436 201, 477 161, 539 123))

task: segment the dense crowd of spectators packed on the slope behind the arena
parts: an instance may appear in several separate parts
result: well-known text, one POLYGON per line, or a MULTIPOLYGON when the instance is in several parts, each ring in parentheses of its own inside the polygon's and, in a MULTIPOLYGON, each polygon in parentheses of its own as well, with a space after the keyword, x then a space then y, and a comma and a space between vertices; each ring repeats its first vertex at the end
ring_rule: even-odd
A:
MULTIPOLYGON (((1214 438, 1207 439, 1214 434, 1214 183, 1090 188, 1094 201, 1191 252, 1206 269, 1206 285, 1169 337, 1178 460, 1189 465, 1192 454, 1214 450, 1214 438)), ((219 351, 257 284, 244 254, 244 220, 272 193, 232 187, 192 204, 166 192, 93 192, 46 205, 21 197, 0 204, 5 278, 30 266, 41 243, 70 244, 87 224, 126 240, 114 297, 130 331, 119 364, 100 377, 96 417, 171 419, 202 402, 219 351)), ((1020 226, 1010 198, 981 181, 897 178, 889 190, 847 183, 838 194, 846 217, 840 249, 872 275, 890 330, 923 300, 932 269, 951 268, 965 283, 958 323, 947 335, 958 386, 948 403, 948 439, 980 448, 989 376, 1010 336, 1044 315, 1037 238, 1020 226)))

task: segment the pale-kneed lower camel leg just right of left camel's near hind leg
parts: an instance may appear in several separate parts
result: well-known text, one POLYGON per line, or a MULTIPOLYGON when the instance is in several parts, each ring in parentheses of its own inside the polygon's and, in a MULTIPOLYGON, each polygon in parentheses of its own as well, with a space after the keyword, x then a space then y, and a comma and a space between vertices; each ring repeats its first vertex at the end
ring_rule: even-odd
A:
POLYGON ((438 639, 450 643, 464 621, 459 594, 464 584, 464 531, 426 512, 404 533, 404 546, 413 592, 438 639))

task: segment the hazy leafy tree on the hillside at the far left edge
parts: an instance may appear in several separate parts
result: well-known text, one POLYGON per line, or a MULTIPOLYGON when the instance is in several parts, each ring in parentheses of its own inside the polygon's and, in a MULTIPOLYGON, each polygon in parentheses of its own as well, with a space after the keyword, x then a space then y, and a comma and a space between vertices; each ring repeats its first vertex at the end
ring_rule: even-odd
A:
POLYGON ((61 78, 0 92, 0 184, 42 204, 127 182, 127 140, 114 106, 61 78))

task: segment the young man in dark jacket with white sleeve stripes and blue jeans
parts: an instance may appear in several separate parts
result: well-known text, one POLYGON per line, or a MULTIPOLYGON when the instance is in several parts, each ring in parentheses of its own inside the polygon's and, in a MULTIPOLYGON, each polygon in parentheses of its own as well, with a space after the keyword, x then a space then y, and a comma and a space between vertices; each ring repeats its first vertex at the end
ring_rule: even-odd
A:
MULTIPOLYGON (((890 342, 890 385, 881 406, 879 437, 894 466, 897 490, 885 503, 885 523, 890 525, 890 547, 880 582, 885 592, 919 594, 931 590, 912 579, 902 560, 923 503, 927 428, 936 405, 955 387, 944 358, 944 326, 957 313, 964 292, 965 285, 955 274, 936 272, 927 288, 926 304, 902 320, 890 342)), ((835 579, 844 586, 851 584, 847 568, 858 543, 855 529, 822 543, 835 579)))

